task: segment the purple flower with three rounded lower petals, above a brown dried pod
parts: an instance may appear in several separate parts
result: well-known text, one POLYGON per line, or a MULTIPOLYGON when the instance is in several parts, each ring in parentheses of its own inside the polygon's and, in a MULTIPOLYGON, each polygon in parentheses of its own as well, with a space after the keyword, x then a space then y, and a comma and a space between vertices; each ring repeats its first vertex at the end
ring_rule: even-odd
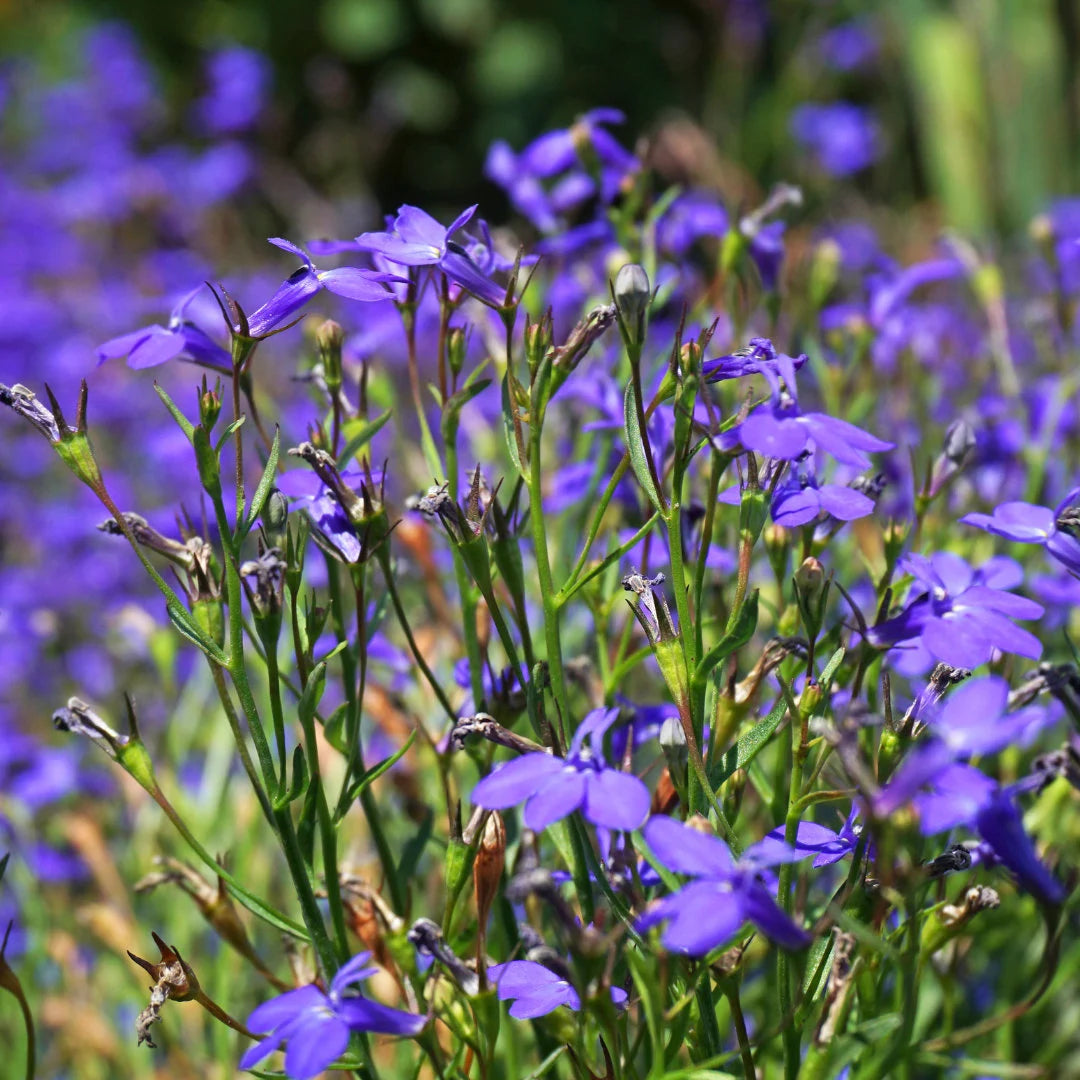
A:
POLYGON ((600 748, 618 718, 618 708, 594 708, 573 733, 565 759, 538 753, 508 761, 481 780, 473 802, 507 810, 528 799, 525 824, 537 833, 579 809, 593 825, 637 828, 649 812, 649 789, 637 777, 609 768, 600 748))

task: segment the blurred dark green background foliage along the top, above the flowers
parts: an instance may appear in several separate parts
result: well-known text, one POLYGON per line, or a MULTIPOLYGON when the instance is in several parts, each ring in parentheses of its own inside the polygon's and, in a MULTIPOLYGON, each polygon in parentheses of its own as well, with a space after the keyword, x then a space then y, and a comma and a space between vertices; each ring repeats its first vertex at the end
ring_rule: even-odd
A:
POLYGON ((648 133, 661 173, 718 185, 737 206, 787 179, 847 201, 815 207, 826 216, 923 204, 933 225, 985 237, 1080 186, 1080 0, 8 3, 0 49, 59 77, 102 18, 134 27, 180 99, 207 49, 269 57, 261 136, 284 203, 302 185, 366 199, 368 214, 480 200, 498 220, 502 195, 481 180, 492 139, 519 147, 597 105, 648 133), (862 52, 829 39, 839 26, 865 32, 862 52), (880 134, 842 195, 789 123, 798 105, 837 99, 872 109, 880 134))

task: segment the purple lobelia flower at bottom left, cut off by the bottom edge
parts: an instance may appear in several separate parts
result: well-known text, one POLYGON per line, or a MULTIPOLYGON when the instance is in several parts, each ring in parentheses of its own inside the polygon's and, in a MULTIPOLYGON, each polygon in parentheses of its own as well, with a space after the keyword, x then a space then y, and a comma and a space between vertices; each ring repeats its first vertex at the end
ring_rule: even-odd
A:
POLYGON ((345 964, 330 982, 329 994, 318 986, 301 986, 265 1001, 247 1018, 253 1031, 269 1028, 271 1034, 252 1047, 240 1059, 242 1069, 258 1065, 283 1042, 285 1072, 292 1080, 310 1080, 345 1053, 353 1031, 414 1036, 427 1017, 402 1012, 356 995, 346 996, 350 986, 374 975, 370 953, 360 953, 345 964))

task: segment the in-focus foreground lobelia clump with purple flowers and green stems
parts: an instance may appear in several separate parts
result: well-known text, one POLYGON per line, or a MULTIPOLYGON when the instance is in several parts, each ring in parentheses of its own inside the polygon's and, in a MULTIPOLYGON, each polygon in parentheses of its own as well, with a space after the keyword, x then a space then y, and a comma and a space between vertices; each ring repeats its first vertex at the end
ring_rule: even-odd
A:
MULTIPOLYGON (((879 150, 867 118, 843 119, 794 122, 837 174, 879 150)), ((767 219, 798 192, 737 221, 708 192, 658 189, 620 120, 492 148, 532 244, 503 249, 475 206, 444 227, 404 205, 308 245, 370 265, 319 269, 273 239, 300 266, 252 314, 218 286, 224 329, 191 294, 100 346, 100 362, 224 379, 192 409, 139 390, 198 481, 204 512, 176 528, 114 475, 85 382, 73 427, 52 390, 46 405, 0 383, 146 570, 212 717, 207 818, 173 757, 190 703, 144 687, 159 719, 129 699, 129 734, 81 698, 55 714, 160 809, 156 847, 216 877, 166 859, 154 878, 203 920, 176 902, 188 959, 137 961, 154 1034, 178 1042, 170 1013, 205 999, 227 1069, 293 1080, 869 1080, 986 1055, 995 1075, 1052 1075, 1009 1072, 995 1032, 1065 993, 1066 956, 1076 970, 1080 768, 1061 727, 1080 676, 1065 635, 1017 625, 1043 613, 1017 592, 1025 567, 957 525, 1076 571, 1072 496, 1013 498, 1023 475, 968 427, 929 456, 885 375, 829 333, 825 299, 852 291, 877 312, 856 327, 865 360, 917 318, 917 285, 956 286, 955 261, 918 280, 890 262, 865 295, 839 272, 816 298, 782 295, 767 219), (293 360, 271 351, 315 301, 340 322, 286 339, 293 360), (291 364, 299 404, 275 399, 291 364), (994 513, 971 510, 989 487, 994 513), (1017 658, 1043 651, 1055 663, 1024 677, 1017 658), (974 994, 984 927, 1024 928, 1029 995, 974 994)), ((913 402, 936 446, 940 410, 913 402)), ((1047 470, 1027 494, 1075 482, 1047 470)), ((25 1002, 2 949, 0 987, 25 1002)))

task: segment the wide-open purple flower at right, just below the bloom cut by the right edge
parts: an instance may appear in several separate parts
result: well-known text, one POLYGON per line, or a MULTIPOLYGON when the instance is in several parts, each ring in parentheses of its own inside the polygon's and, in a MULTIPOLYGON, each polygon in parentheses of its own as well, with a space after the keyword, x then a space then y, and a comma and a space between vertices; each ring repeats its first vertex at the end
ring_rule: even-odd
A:
POLYGON ((869 639, 892 646, 918 638, 932 657, 951 667, 977 667, 995 649, 1030 660, 1042 644, 1013 619, 1038 619, 1042 605, 1005 592, 1020 583, 1023 571, 1009 558, 991 558, 973 570, 959 555, 937 552, 905 555, 902 570, 915 576, 924 591, 900 615, 875 626, 869 639))

